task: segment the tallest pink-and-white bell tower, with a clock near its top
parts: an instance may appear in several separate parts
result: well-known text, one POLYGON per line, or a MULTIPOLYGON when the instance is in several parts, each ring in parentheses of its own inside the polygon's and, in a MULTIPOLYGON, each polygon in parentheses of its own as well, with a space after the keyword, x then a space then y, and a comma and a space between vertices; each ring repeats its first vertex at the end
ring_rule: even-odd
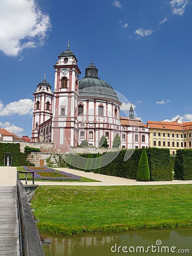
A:
POLYGON ((52 141, 57 151, 66 152, 77 146, 78 76, 76 56, 68 49, 62 51, 55 64, 55 86, 52 121, 52 141))

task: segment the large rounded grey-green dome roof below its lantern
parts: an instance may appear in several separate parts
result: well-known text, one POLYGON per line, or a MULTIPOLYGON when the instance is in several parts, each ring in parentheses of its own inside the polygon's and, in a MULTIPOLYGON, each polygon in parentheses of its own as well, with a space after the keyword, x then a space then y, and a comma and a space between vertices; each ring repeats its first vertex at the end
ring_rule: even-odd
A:
POLYGON ((85 77, 79 81, 79 96, 92 98, 108 98, 119 101, 112 86, 98 78, 85 77))

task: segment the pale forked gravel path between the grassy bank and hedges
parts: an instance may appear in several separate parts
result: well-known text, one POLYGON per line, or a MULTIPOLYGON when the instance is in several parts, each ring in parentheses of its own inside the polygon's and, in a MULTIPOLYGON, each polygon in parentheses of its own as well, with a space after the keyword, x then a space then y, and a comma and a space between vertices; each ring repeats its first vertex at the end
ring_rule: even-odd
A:
MULTIPOLYGON (((69 168, 55 168, 56 170, 69 172, 70 174, 80 175, 89 179, 102 182, 53 182, 53 181, 35 181, 38 185, 80 185, 80 186, 129 186, 129 185, 167 185, 167 184, 192 184, 192 180, 172 180, 172 181, 149 181, 141 182, 125 179, 122 177, 107 176, 103 174, 94 174, 94 172, 84 172, 69 168)), ((23 181, 24 183, 24 181, 23 181)), ((28 181, 31 184, 32 181, 28 181)))

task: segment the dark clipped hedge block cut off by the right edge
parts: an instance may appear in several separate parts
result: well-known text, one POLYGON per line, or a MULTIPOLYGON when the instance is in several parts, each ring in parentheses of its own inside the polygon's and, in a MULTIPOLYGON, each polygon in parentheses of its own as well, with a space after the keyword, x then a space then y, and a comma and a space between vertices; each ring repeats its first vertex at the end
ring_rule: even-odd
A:
POLYGON ((192 180, 192 150, 177 150, 174 179, 192 180))

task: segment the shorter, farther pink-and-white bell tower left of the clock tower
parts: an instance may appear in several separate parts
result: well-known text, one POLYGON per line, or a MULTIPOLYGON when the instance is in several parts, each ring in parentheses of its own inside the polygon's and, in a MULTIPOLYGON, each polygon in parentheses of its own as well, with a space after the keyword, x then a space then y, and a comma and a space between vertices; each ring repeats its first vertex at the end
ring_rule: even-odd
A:
POLYGON ((49 82, 39 82, 34 93, 34 112, 32 121, 32 142, 39 142, 39 125, 47 121, 53 115, 53 92, 49 82))

